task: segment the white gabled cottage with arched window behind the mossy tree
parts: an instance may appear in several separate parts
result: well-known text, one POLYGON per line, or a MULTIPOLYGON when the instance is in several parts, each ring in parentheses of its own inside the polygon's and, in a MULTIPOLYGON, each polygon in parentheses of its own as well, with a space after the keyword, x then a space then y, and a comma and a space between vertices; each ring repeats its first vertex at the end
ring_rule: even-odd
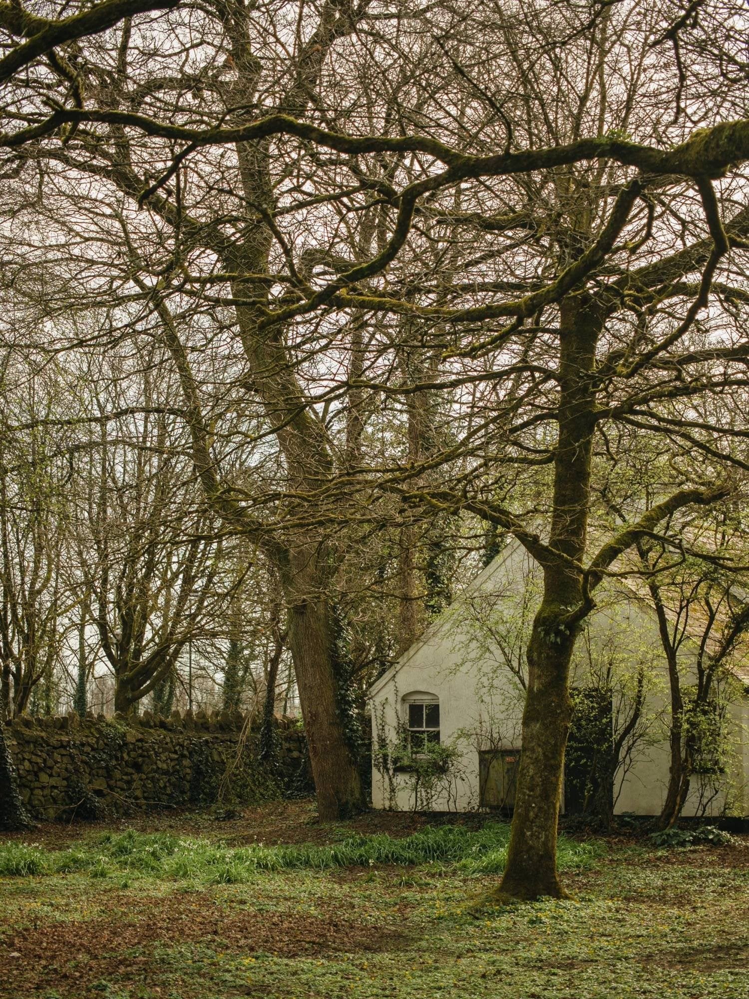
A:
MULTIPOLYGON (((538 586, 535 563, 509 544, 373 684, 375 808, 511 809, 522 750, 524 649, 538 586)), ((668 671, 657 619, 624 584, 596 591, 596 599, 572 666, 576 716, 586 720, 570 734, 563 807, 570 813, 589 806, 598 779, 592 761, 603 740, 614 814, 657 815, 670 760, 668 671)), ((682 687, 694 681, 696 655, 697 642, 685 638, 682 687)), ((685 815, 749 815, 747 665, 734 665, 716 685, 707 719, 715 738, 691 781, 685 815)))

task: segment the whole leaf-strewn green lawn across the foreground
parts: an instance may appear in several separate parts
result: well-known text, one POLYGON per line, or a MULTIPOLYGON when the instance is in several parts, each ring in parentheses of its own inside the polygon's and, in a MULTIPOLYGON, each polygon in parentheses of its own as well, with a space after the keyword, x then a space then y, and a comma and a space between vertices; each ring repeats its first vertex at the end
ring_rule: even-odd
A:
POLYGON ((494 909, 476 899, 496 883, 506 827, 393 839, 317 826, 314 846, 259 846, 240 829, 239 846, 179 823, 60 849, 6 837, 0 996, 749 996, 746 839, 565 841, 574 901, 494 909))

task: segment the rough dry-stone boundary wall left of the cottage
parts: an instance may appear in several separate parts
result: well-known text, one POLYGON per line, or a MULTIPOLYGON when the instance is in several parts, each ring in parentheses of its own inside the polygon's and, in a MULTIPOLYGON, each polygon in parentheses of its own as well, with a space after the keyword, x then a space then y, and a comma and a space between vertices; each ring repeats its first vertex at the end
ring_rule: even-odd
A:
POLYGON ((232 807, 311 789, 307 743, 294 722, 276 727, 277 762, 257 762, 257 733, 241 714, 146 711, 112 719, 22 716, 6 724, 21 795, 36 818, 103 818, 140 809, 232 807), (221 793, 220 793, 221 788, 221 793))

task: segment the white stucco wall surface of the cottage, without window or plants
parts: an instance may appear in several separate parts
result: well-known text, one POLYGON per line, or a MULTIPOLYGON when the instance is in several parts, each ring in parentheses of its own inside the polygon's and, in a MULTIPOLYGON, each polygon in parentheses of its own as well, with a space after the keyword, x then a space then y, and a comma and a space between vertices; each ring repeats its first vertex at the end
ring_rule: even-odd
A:
MULTIPOLYGON (((435 695, 440 707, 440 741, 458 752, 448 774, 418 806, 434 811, 469 811, 479 805, 478 752, 480 749, 520 748, 523 691, 511 665, 519 667, 527 628, 536 603, 533 579, 537 570, 519 545, 511 545, 487 566, 466 593, 449 607, 372 687, 375 750, 377 740, 394 742, 398 717, 404 721, 402 698, 412 691, 435 695)), ((614 787, 615 812, 658 814, 663 805, 669 771, 667 726, 669 696, 666 665, 652 611, 621 589, 599 599, 589 618, 586 634, 578 639, 573 659, 572 684, 590 683, 591 662, 610 665, 626 696, 626 678, 647 666, 643 714, 648 733, 637 743, 628 764, 621 768, 614 787)), ((695 646, 683 646, 685 682, 695 646)), ((729 809, 747 813, 746 784, 749 746, 746 727, 749 705, 737 685, 730 708, 730 738, 735 752, 729 767, 729 809)), ((626 706, 626 705, 624 705, 626 706)), ((616 705, 615 705, 616 710, 616 705)), ((376 760, 376 752, 375 752, 376 760)), ((692 789, 684 814, 701 808, 699 780, 692 789)), ((373 767, 375 808, 410 809, 415 806, 412 778, 387 777, 373 767)), ((717 794, 707 814, 723 812, 725 792, 717 794)))

